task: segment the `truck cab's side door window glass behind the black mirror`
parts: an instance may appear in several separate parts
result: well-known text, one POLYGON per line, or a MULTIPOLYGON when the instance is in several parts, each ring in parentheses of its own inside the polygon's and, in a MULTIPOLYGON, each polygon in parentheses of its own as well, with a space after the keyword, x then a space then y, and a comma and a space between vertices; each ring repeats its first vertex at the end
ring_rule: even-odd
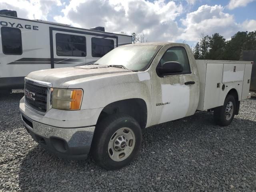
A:
POLYGON ((184 47, 169 48, 162 56, 158 66, 162 67, 165 62, 172 62, 172 61, 179 62, 182 65, 183 67, 182 74, 191 73, 188 56, 184 47))

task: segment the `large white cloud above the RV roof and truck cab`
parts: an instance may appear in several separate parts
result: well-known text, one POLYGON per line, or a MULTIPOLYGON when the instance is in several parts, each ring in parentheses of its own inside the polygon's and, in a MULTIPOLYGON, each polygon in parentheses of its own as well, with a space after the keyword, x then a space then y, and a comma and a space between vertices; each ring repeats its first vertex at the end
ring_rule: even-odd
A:
POLYGON ((180 34, 175 21, 183 11, 174 1, 71 0, 64 16, 54 20, 83 28, 104 26, 106 31, 144 33, 149 41, 173 41, 180 34))

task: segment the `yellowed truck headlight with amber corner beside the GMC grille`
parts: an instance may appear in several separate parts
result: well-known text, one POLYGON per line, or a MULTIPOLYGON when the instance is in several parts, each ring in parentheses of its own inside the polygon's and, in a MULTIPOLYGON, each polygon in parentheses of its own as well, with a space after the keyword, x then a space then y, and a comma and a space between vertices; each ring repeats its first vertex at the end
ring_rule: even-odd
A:
POLYGON ((82 89, 53 89, 52 108, 79 110, 83 97, 82 89))

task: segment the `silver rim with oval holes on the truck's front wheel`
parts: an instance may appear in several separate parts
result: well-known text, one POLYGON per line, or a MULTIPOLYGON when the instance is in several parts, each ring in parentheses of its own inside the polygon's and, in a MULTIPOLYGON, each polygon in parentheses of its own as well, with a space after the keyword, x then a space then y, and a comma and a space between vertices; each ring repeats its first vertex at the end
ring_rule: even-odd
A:
POLYGON ((128 128, 118 129, 108 142, 108 155, 114 161, 122 161, 128 158, 135 146, 135 134, 128 128))

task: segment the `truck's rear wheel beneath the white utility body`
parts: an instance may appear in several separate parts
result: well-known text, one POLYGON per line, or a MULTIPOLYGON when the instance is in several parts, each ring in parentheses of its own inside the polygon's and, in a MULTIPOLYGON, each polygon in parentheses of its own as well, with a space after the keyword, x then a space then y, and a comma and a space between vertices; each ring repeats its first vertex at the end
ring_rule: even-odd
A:
POLYGON ((214 121, 220 126, 228 126, 236 112, 236 100, 233 95, 227 95, 223 106, 214 108, 214 121))

